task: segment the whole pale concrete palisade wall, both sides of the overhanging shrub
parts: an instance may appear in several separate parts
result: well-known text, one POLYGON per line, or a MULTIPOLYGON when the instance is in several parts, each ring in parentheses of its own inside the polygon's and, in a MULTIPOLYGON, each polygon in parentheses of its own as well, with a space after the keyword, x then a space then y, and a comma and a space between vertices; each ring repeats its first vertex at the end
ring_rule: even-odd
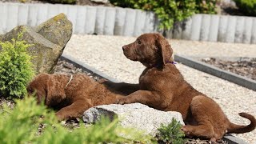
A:
MULTIPOLYGON (((18 25, 37 26, 64 13, 73 22, 74 34, 138 36, 155 32, 158 20, 152 12, 106 6, 71 6, 0 2, 0 34, 18 25)), ((210 42, 256 44, 256 18, 195 14, 178 22, 167 38, 210 42)))

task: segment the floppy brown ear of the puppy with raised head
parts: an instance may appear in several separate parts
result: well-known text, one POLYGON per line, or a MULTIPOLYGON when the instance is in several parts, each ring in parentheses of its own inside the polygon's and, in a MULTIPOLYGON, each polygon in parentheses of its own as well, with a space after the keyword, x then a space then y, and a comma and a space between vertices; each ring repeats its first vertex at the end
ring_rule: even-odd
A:
POLYGON ((163 65, 166 65, 167 62, 170 61, 170 58, 173 54, 173 50, 170 47, 169 42, 162 36, 162 34, 156 34, 156 44, 158 46, 158 50, 161 50, 162 53, 162 63, 163 65))

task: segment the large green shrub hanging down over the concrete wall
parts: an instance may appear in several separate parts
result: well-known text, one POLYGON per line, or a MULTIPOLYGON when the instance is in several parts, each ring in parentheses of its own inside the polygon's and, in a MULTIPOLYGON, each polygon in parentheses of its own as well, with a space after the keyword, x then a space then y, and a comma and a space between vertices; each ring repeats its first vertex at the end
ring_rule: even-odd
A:
POLYGON ((154 11, 160 20, 160 30, 170 30, 174 22, 180 22, 196 12, 194 0, 110 0, 110 2, 116 6, 154 11))

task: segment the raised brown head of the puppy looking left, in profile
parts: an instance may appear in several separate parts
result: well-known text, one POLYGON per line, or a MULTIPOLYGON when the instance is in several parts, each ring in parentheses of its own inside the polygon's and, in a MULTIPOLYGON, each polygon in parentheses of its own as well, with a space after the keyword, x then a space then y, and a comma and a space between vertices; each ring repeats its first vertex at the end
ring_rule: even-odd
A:
POLYGON ((122 46, 126 58, 142 62, 146 67, 165 66, 173 50, 162 34, 142 34, 135 42, 122 46))

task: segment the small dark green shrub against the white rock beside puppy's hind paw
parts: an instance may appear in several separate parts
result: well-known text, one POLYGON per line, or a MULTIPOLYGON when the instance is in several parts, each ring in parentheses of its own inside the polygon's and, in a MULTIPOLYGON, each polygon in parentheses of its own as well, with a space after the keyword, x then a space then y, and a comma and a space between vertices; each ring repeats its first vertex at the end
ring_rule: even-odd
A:
POLYGON ((176 119, 167 126, 161 125, 158 129, 158 139, 165 143, 181 144, 185 143, 185 134, 181 130, 182 125, 176 119))

